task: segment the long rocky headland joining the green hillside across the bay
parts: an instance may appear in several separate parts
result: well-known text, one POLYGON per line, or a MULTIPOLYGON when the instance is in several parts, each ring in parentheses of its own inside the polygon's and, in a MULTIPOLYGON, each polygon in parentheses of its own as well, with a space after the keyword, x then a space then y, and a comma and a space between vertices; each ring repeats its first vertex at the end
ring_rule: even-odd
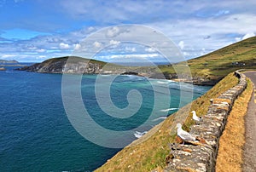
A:
POLYGON ((66 56, 45 60, 42 63, 25 66, 18 70, 41 73, 132 74, 143 77, 172 79, 197 85, 214 85, 230 72, 235 72, 241 68, 255 68, 255 44, 256 37, 250 37, 210 54, 170 65, 120 66, 99 60, 66 56), (182 73, 177 78, 177 72, 173 65, 179 69, 188 69, 189 67, 191 73, 185 73, 185 70, 181 70, 182 73), (189 76, 192 76, 192 82, 189 76))

